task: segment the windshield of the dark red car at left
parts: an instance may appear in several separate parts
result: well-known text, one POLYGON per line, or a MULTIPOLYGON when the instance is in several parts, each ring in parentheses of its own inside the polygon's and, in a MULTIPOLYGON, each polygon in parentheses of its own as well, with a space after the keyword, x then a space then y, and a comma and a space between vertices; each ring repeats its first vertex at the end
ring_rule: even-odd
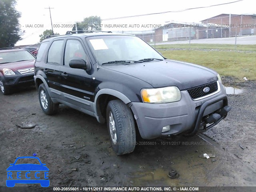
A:
POLYGON ((24 60, 35 59, 32 54, 28 51, 8 51, 0 53, 0 64, 12 63, 24 60))

